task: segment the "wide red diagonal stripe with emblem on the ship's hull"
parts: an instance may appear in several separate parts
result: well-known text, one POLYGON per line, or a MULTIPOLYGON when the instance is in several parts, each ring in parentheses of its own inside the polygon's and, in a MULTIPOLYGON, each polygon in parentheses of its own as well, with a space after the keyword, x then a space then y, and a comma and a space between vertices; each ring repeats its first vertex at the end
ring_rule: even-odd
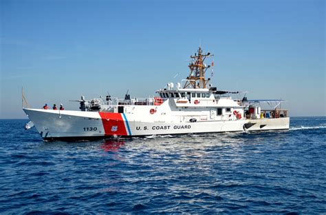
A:
POLYGON ((108 112, 99 112, 99 114, 102 119, 105 136, 127 136, 127 130, 124 126, 122 114, 108 112))

